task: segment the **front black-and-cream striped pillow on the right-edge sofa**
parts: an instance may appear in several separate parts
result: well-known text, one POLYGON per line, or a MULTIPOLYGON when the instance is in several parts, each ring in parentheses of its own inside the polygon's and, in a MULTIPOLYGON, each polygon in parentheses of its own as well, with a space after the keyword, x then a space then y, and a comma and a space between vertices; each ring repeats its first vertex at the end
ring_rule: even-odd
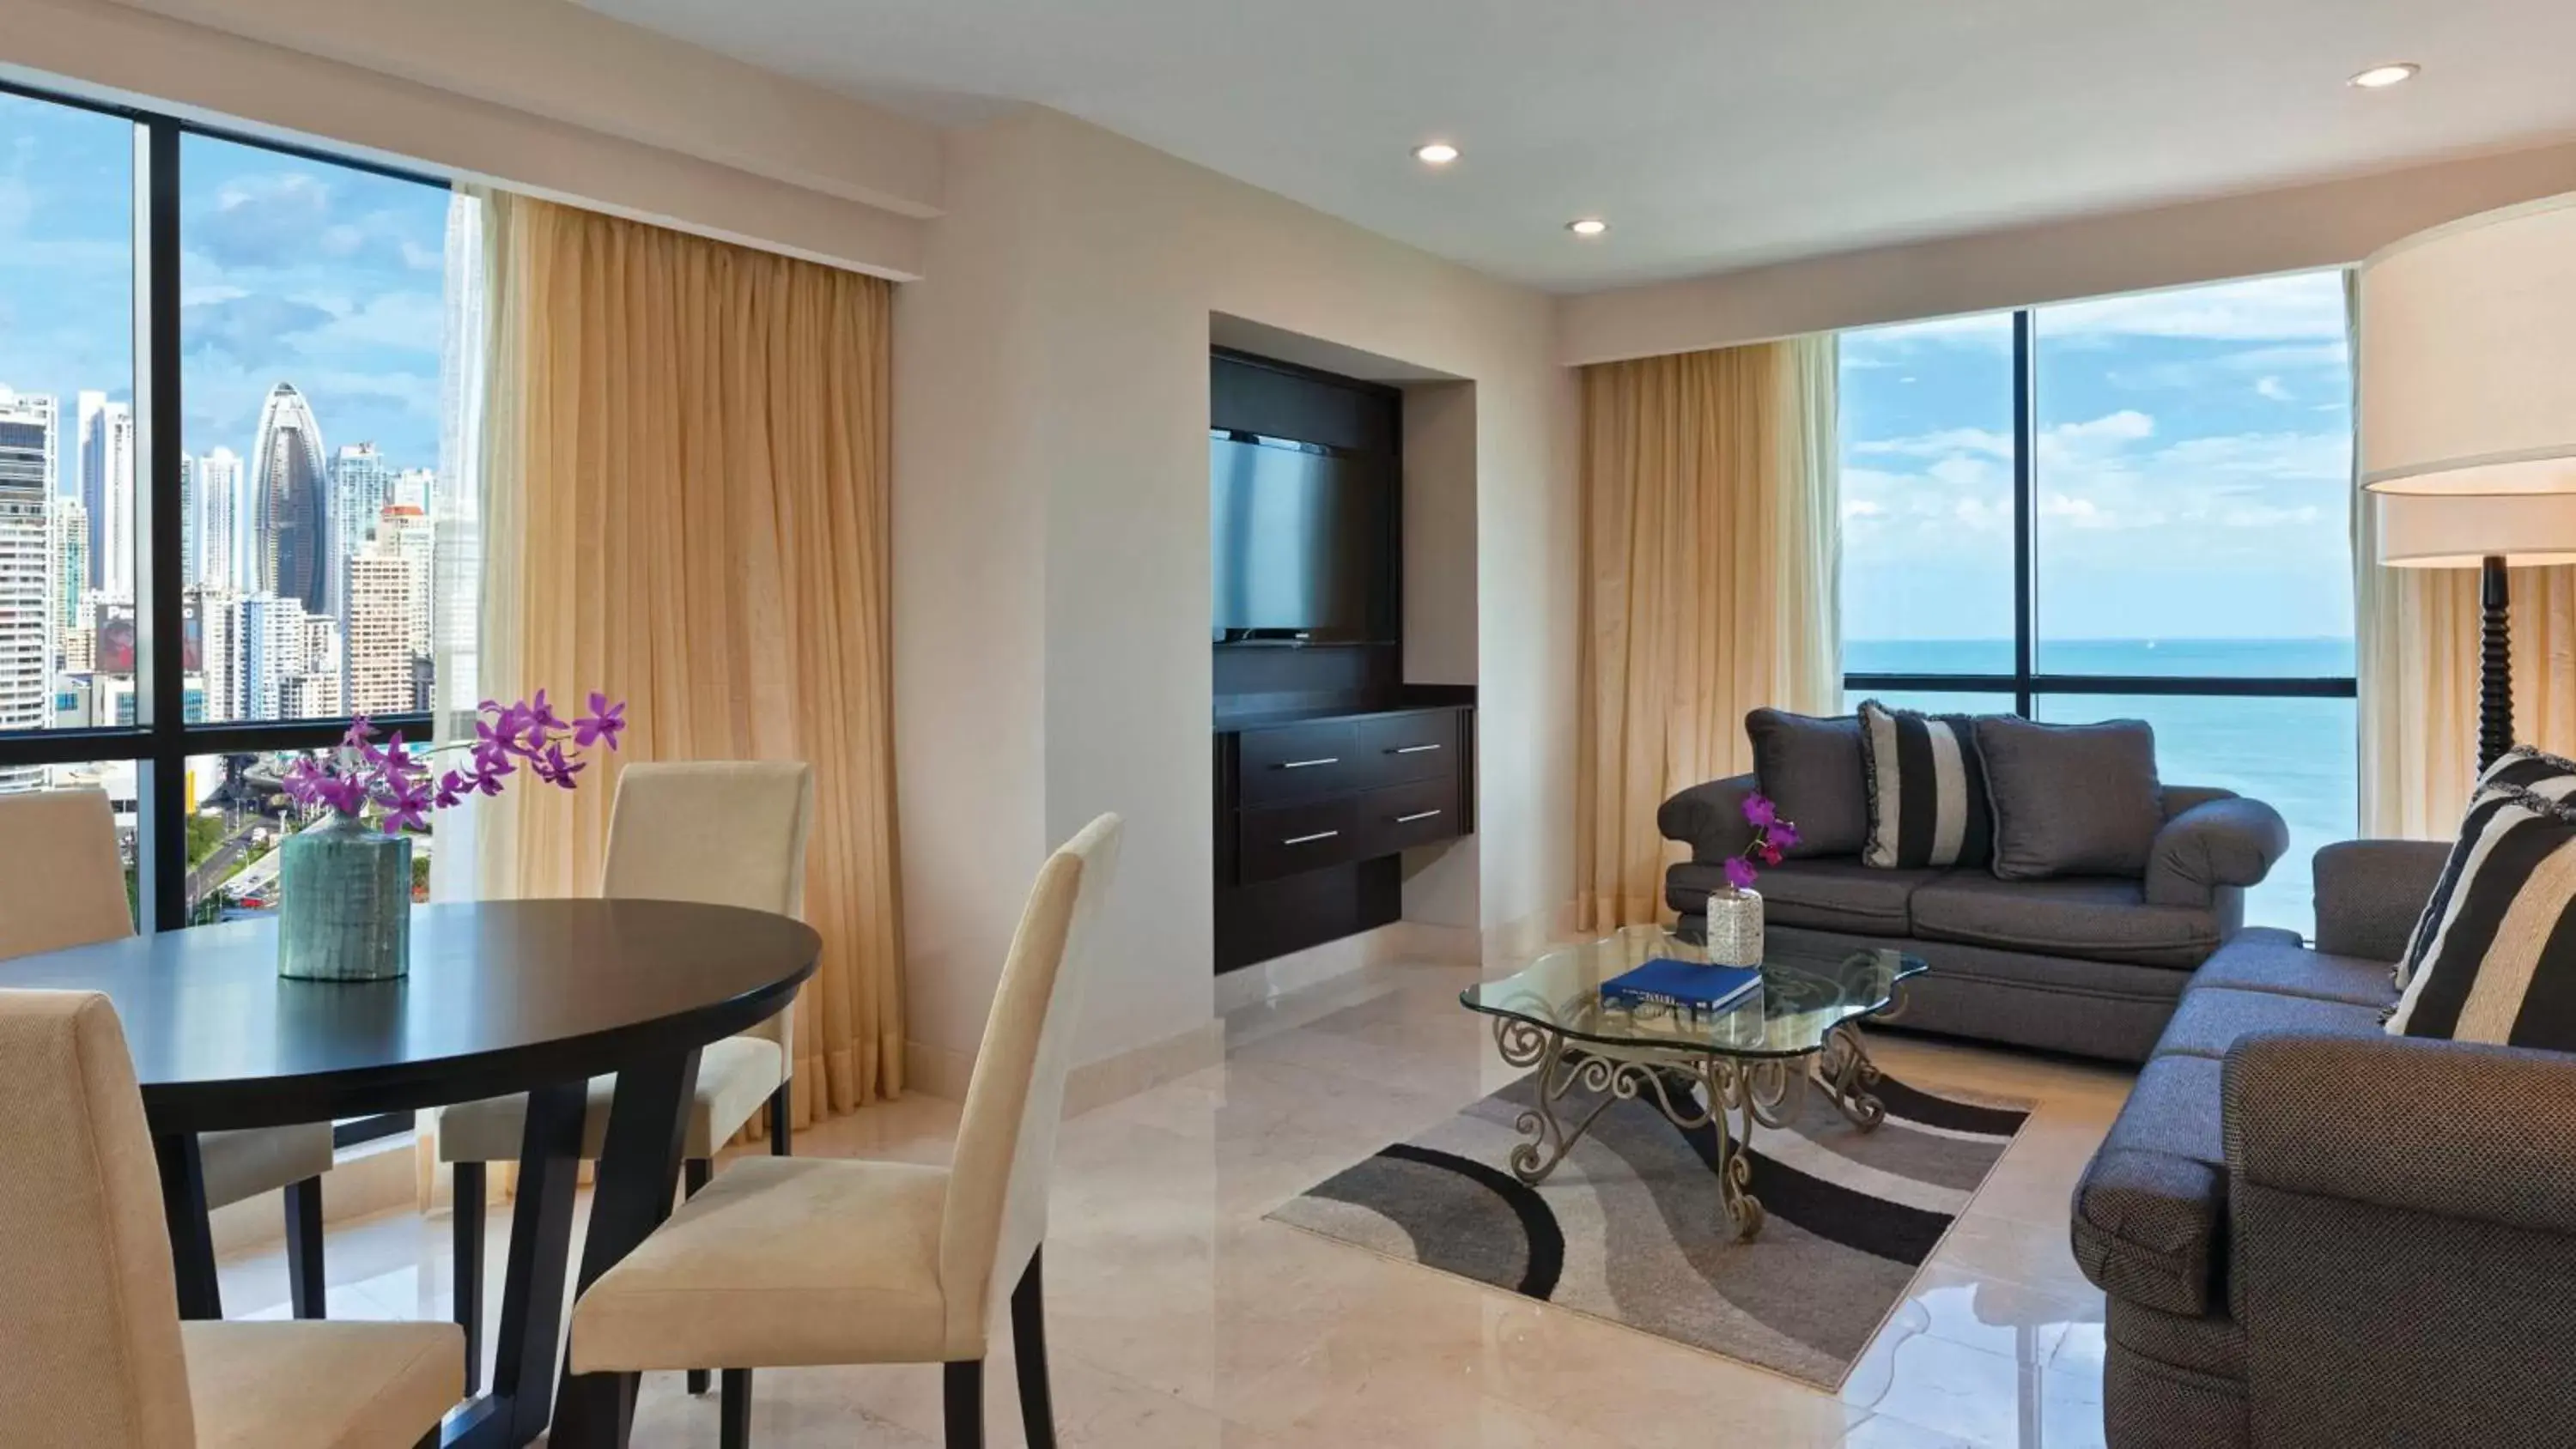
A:
POLYGON ((2445 867, 2391 1037, 2576 1050, 2576 806, 2488 785, 2445 867))

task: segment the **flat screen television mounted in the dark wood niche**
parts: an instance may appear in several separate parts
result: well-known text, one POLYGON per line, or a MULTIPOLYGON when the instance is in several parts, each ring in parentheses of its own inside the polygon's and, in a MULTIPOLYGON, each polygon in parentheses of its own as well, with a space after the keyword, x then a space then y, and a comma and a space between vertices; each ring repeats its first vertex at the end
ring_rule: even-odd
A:
POLYGON ((1394 636, 1396 486, 1383 463, 1211 432, 1208 551, 1216 643, 1394 636))

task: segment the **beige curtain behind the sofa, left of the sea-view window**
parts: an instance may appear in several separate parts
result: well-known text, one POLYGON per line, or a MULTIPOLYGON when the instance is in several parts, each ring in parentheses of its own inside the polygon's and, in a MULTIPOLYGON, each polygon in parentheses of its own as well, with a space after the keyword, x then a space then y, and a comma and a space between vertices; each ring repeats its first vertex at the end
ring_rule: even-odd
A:
POLYGON ((1577 914, 1664 916, 1654 811, 1842 695, 1834 340, 1584 368, 1577 914))

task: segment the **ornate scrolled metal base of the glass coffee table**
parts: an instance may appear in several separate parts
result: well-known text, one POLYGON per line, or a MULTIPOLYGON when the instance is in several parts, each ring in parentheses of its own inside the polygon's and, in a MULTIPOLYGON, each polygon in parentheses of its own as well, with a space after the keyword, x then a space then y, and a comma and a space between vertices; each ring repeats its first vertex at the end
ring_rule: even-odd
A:
POLYGON ((1811 1078, 1862 1132, 1888 1117, 1873 1094, 1878 1066, 1870 1063, 1850 1022, 1826 1032, 1824 1050, 1806 1058, 1744 1060, 1690 1050, 1577 1045, 1564 1032, 1497 1017, 1494 1050, 1510 1066, 1538 1068, 1538 1102, 1515 1122, 1528 1140, 1512 1148, 1512 1176, 1528 1184, 1546 1181, 1613 1102, 1646 1099, 1674 1127, 1685 1132, 1708 1127, 1716 1135, 1718 1207, 1744 1241, 1762 1233, 1765 1220, 1762 1199, 1752 1194, 1754 1163, 1747 1156, 1757 1125, 1785 1127, 1806 1104, 1811 1078), (1600 1102, 1569 1125, 1558 1104, 1577 1086, 1600 1094, 1600 1102))

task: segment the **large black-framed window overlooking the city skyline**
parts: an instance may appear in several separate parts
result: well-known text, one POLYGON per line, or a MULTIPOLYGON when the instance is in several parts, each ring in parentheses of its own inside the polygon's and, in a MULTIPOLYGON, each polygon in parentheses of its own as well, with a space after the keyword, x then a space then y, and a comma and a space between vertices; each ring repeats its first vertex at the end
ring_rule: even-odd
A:
POLYGON ((137 921, 276 906, 278 793, 420 739, 443 486, 438 180, 0 90, 0 793, 95 785, 137 921))

